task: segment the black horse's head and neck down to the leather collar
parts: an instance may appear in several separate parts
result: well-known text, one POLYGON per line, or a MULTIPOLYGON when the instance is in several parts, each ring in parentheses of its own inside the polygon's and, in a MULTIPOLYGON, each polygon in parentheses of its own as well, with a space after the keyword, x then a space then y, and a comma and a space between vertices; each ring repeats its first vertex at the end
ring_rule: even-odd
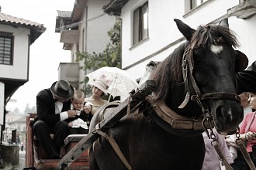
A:
POLYGON ((205 116, 220 134, 234 134, 243 119, 236 73, 247 67, 248 60, 233 48, 238 42, 227 19, 196 30, 178 19, 175 22, 187 41, 154 70, 154 100, 163 100, 185 117, 205 116))

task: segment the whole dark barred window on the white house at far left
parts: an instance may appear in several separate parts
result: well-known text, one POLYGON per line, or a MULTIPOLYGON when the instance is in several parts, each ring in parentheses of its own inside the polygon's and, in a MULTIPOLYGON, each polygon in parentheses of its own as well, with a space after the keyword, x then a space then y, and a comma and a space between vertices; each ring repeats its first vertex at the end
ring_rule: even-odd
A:
POLYGON ((10 33, 0 32, 0 64, 12 64, 13 36, 10 33))

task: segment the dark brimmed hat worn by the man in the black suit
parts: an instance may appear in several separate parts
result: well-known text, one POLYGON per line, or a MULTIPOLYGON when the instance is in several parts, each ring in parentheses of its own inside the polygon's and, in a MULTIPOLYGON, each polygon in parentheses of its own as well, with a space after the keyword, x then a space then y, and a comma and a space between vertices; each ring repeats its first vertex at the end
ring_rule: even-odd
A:
POLYGON ((71 99, 74 96, 74 88, 67 80, 58 80, 51 85, 50 90, 55 96, 63 99, 71 99))

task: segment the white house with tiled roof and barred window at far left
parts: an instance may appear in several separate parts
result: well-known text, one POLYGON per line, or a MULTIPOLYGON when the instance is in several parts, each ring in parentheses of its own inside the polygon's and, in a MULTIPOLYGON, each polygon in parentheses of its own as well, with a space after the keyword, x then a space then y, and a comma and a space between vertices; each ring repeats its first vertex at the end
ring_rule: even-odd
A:
POLYGON ((45 32, 43 24, 0 12, 0 125, 12 94, 29 81, 29 48, 45 32))

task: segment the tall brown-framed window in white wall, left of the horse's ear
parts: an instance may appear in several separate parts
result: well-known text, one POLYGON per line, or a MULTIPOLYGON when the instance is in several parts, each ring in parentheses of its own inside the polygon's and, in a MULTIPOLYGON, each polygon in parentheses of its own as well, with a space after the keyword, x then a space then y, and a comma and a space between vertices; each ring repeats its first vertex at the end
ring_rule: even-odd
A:
POLYGON ((133 45, 148 37, 148 3, 133 12, 133 45))

